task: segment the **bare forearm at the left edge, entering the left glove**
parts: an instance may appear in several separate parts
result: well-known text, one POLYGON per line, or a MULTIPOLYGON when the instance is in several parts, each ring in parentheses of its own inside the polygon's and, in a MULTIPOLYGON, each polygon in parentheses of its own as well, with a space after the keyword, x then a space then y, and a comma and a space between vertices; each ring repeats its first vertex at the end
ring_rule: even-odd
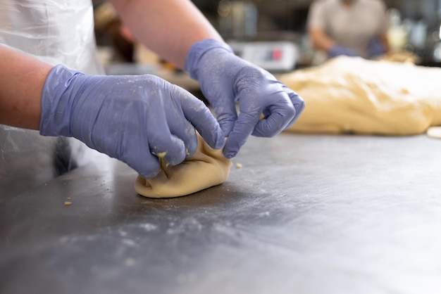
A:
POLYGON ((0 46, 0 123, 39 129, 41 97, 51 65, 0 46))

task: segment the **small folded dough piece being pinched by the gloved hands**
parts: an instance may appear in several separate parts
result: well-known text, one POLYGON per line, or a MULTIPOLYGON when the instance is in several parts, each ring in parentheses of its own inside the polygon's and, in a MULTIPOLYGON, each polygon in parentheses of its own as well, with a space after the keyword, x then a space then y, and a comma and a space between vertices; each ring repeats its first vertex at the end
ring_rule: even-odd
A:
POLYGON ((222 184, 230 174, 232 161, 215 150, 197 134, 197 151, 180 165, 166 165, 161 160, 161 172, 153 179, 140 175, 135 180, 135 191, 150 198, 186 196, 211 186, 222 184))

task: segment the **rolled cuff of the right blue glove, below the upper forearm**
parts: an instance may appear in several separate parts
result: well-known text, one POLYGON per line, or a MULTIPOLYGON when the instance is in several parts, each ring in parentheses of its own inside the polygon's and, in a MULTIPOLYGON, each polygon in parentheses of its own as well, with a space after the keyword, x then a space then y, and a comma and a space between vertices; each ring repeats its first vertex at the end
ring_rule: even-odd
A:
POLYGON ((185 70, 190 74, 193 79, 199 79, 199 61, 204 56, 205 53, 212 49, 223 49, 234 54, 230 45, 222 41, 217 41, 215 39, 204 39, 197 41, 193 44, 190 51, 187 53, 187 58, 185 58, 185 70))

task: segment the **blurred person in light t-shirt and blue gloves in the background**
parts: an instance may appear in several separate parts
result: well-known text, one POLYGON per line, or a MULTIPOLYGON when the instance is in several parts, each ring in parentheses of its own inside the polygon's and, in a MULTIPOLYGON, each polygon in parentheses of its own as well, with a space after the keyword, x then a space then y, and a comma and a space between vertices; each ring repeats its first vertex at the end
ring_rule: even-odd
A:
POLYGON ((307 23, 313 46, 328 58, 375 58, 387 53, 388 26, 382 0, 316 0, 307 23))

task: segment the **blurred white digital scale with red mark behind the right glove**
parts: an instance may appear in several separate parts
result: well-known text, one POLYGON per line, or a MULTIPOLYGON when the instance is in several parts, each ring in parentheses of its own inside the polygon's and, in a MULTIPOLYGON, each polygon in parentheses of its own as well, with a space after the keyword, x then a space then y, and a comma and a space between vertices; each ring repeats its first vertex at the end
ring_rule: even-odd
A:
POLYGON ((294 70, 299 55, 292 41, 230 41, 237 56, 271 72, 294 70))

